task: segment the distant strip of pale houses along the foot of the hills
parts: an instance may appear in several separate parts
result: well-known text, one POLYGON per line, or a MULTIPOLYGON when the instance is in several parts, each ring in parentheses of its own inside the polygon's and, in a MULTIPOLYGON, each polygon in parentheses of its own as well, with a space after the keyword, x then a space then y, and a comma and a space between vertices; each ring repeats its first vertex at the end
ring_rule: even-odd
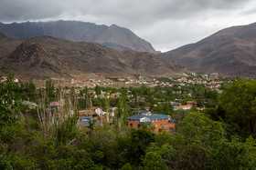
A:
POLYGON ((97 78, 90 78, 85 82, 76 81, 74 79, 71 80, 70 84, 74 86, 88 85, 90 87, 95 87, 96 85, 101 86, 140 86, 146 85, 148 87, 155 87, 157 85, 160 86, 186 86, 186 85, 205 85, 208 88, 219 90, 220 86, 223 85, 223 81, 230 83, 229 78, 225 76, 221 76, 218 73, 212 74, 199 74, 199 73, 183 73, 182 77, 155 77, 155 76, 143 76, 140 75, 137 78, 132 78, 130 76, 125 76, 121 78, 115 77, 107 77, 105 75, 101 75, 100 73, 95 73, 97 78))

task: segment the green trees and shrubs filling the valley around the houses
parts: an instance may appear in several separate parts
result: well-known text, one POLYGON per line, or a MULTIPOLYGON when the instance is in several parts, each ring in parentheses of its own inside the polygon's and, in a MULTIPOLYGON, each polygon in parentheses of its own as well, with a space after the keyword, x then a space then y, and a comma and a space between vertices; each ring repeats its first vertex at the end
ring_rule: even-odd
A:
MULTIPOLYGON (((197 103, 208 107, 174 112, 165 102, 176 98, 172 88, 109 88, 103 90, 121 97, 91 99, 88 88, 76 95, 74 88, 55 88, 50 80, 39 89, 32 80, 24 84, 13 80, 10 72, 0 84, 0 169, 256 167, 256 81, 237 79, 222 95, 195 86, 197 103), (38 106, 29 109, 22 103, 28 99, 38 106), (65 100, 59 112, 48 109, 50 102, 59 99, 65 100), (105 110, 117 106, 113 125, 80 125, 78 111, 91 105, 105 110), (127 127, 126 117, 144 106, 175 118, 176 133, 127 127)), ((100 86, 93 90, 101 95, 100 86)))

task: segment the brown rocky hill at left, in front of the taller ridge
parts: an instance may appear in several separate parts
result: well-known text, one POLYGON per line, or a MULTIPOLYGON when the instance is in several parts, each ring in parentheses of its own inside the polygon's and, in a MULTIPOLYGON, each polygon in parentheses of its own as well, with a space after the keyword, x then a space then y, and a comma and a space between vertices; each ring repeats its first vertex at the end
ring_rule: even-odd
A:
POLYGON ((23 40, 0 36, 0 42, 1 50, 5 51, 0 54, 2 71, 12 69, 23 78, 81 78, 91 73, 178 76, 185 71, 182 66, 165 62, 152 53, 114 51, 98 44, 49 36, 23 40))

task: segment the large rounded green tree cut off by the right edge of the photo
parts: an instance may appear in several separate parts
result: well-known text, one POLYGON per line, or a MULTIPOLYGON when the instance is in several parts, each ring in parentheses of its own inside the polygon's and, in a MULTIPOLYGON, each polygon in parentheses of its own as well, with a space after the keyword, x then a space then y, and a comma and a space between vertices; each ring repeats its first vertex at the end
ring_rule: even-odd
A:
POLYGON ((256 80, 237 80, 219 96, 226 121, 244 138, 256 135, 256 80))

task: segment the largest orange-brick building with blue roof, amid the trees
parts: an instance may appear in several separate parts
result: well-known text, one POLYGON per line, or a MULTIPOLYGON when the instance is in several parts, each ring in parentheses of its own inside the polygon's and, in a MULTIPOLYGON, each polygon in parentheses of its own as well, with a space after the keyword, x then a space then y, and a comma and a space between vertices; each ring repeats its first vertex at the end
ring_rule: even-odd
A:
POLYGON ((173 132, 175 127, 175 120, 171 119, 169 115, 132 115, 127 117, 128 126, 139 128, 142 125, 153 125, 155 129, 153 132, 161 131, 173 132))

